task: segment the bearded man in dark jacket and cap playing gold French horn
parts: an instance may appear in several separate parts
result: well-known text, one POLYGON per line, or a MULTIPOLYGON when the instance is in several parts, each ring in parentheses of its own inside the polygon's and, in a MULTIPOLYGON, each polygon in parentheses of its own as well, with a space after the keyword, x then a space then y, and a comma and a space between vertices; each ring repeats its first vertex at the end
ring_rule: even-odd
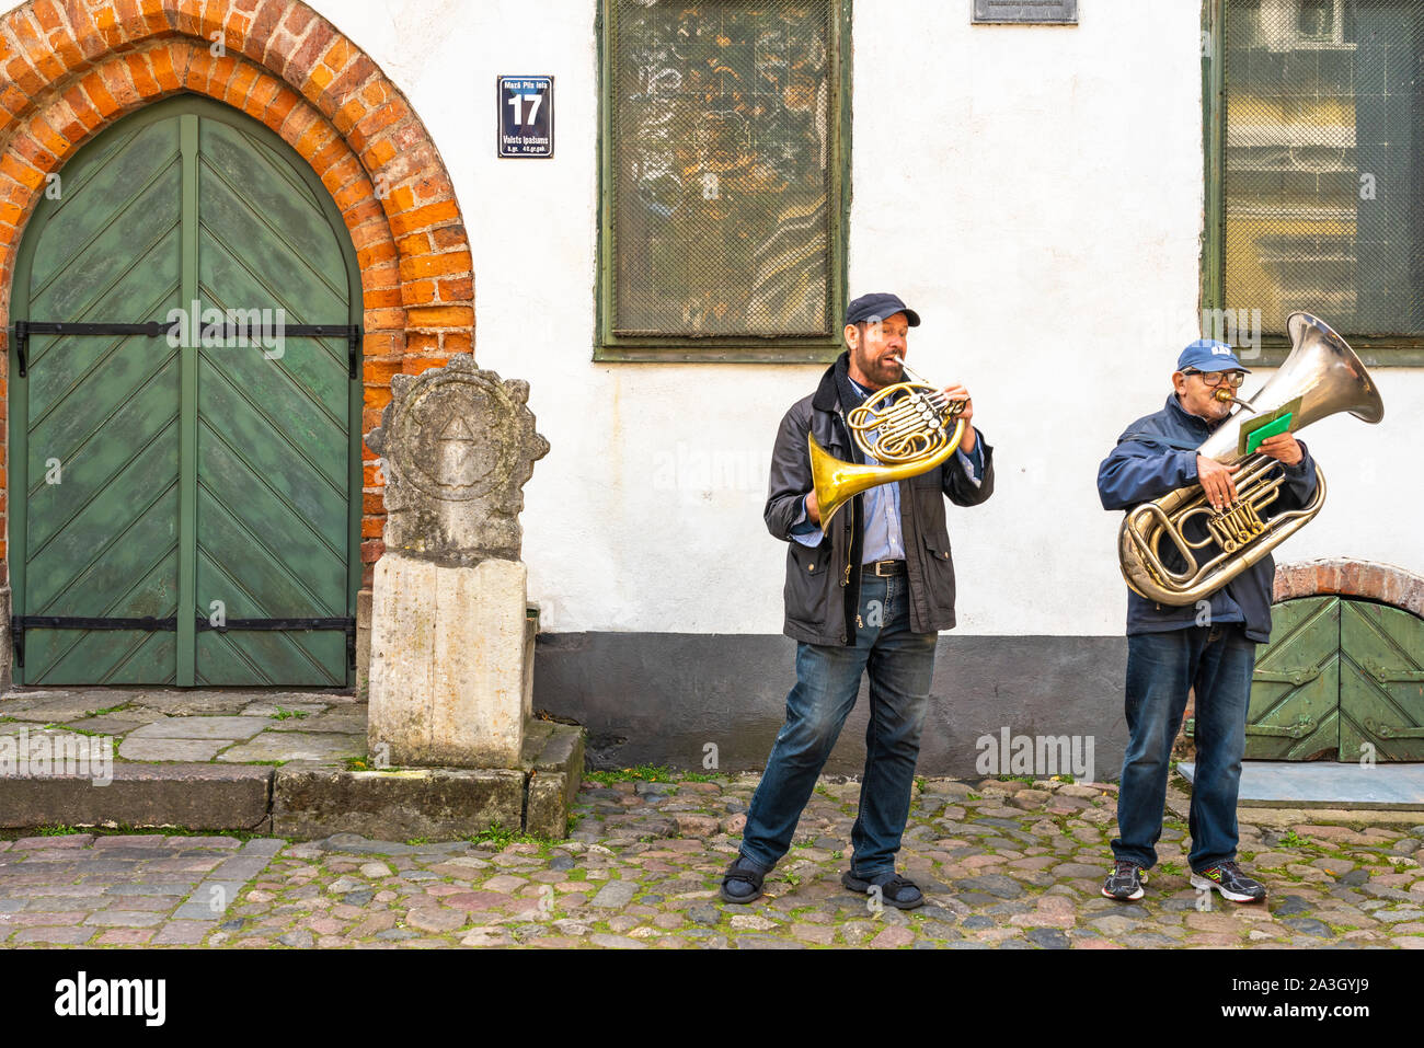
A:
POLYGON ((796 685, 746 814, 740 853, 722 880, 729 903, 758 898, 763 877, 790 847, 867 669, 866 767, 842 884, 897 908, 924 901, 894 863, 937 632, 954 627, 944 498, 983 503, 994 491, 994 461, 970 423, 973 400, 963 386, 893 389, 904 380, 906 339, 918 323, 896 295, 853 300, 843 329, 847 352, 815 393, 792 406, 776 436, 765 518, 789 543, 783 632, 797 641, 796 685), (847 431, 862 420, 874 423, 869 436, 881 456, 869 464, 847 431), (954 437, 940 439, 947 430, 954 437), (907 461, 889 467, 896 439, 907 461))

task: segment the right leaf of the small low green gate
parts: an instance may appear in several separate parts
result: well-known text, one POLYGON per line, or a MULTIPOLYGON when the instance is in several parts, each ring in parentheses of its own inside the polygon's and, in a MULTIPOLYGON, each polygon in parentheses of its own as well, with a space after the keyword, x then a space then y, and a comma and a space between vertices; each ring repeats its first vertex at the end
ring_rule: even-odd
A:
POLYGON ((1340 646, 1340 759, 1424 760, 1424 619, 1347 601, 1340 646))

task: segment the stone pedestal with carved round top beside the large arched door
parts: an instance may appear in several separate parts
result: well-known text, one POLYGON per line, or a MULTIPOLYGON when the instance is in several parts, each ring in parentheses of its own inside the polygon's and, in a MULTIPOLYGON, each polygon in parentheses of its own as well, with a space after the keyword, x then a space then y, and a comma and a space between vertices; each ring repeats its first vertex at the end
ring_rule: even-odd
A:
POLYGON ((520 561, 523 486, 548 441, 528 383, 468 355, 392 379, 366 444, 386 477, 370 629, 370 756, 521 767, 534 645, 520 561))

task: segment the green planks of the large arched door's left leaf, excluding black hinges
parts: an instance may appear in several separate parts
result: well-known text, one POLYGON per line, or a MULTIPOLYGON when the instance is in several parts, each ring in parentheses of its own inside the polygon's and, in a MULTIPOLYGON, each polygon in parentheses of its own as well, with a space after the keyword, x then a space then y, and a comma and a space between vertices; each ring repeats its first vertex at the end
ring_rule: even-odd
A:
MULTIPOLYGON (((31 222, 13 316, 141 322, 179 302, 177 124, 118 128, 31 222)), ((16 611, 175 614, 181 362, 162 340, 40 336, 10 367, 16 611)), ((28 631, 21 682, 172 682, 165 632, 28 631)))

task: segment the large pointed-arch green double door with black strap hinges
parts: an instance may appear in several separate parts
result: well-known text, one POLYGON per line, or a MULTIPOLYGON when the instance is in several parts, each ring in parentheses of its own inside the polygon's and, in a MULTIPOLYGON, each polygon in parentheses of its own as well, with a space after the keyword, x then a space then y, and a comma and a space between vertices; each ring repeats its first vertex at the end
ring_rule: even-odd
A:
POLYGON ((330 197, 191 95, 54 195, 11 292, 16 682, 352 683, 362 298, 330 197))

